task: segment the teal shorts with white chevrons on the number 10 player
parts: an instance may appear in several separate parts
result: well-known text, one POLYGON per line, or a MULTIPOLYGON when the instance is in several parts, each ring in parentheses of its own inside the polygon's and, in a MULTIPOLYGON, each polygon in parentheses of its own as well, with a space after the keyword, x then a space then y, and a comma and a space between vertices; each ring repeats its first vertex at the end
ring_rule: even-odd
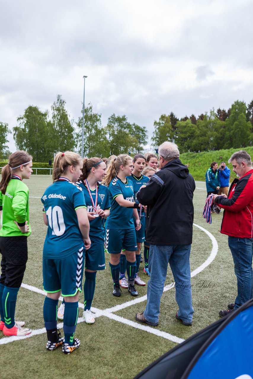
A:
POLYGON ((43 289, 48 293, 61 291, 62 296, 82 292, 84 248, 66 258, 43 258, 43 289))

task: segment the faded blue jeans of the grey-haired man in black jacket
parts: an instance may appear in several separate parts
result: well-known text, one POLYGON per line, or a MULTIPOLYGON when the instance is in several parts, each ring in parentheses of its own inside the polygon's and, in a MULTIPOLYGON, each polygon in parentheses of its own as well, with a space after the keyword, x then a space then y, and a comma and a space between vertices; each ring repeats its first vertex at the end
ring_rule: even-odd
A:
POLYGON ((178 316, 185 322, 192 321, 192 286, 190 273, 191 245, 159 246, 150 245, 148 268, 147 306, 144 316, 148 321, 157 323, 160 301, 167 276, 168 263, 174 276, 178 316))

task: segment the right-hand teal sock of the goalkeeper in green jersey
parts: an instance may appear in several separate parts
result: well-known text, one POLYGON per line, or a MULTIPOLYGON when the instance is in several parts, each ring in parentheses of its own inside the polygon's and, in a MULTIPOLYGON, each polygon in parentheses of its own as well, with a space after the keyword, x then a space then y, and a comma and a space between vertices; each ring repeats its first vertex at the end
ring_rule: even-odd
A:
POLYGON ((19 288, 6 287, 3 289, 2 307, 5 326, 11 329, 15 325, 14 315, 19 288))

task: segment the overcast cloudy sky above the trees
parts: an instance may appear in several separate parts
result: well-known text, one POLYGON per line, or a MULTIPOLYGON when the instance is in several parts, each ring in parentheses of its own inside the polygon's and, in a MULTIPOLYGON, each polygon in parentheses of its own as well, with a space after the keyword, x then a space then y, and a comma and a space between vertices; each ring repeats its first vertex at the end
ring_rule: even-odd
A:
MULTIPOLYGON (((253 99, 252 0, 0 0, 0 121, 61 94, 148 128, 253 99)), ((9 147, 15 150, 9 136, 9 147)))

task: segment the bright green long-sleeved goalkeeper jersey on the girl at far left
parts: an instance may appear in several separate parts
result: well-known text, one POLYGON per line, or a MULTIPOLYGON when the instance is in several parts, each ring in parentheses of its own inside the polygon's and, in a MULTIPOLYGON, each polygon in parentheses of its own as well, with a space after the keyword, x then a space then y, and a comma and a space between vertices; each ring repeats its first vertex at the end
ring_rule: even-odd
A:
POLYGON ((28 196, 27 185, 18 178, 9 181, 5 194, 0 191, 1 237, 29 236, 31 234, 31 227, 28 233, 22 233, 14 222, 16 221, 20 226, 24 225, 25 221, 28 221, 29 224, 28 196))

